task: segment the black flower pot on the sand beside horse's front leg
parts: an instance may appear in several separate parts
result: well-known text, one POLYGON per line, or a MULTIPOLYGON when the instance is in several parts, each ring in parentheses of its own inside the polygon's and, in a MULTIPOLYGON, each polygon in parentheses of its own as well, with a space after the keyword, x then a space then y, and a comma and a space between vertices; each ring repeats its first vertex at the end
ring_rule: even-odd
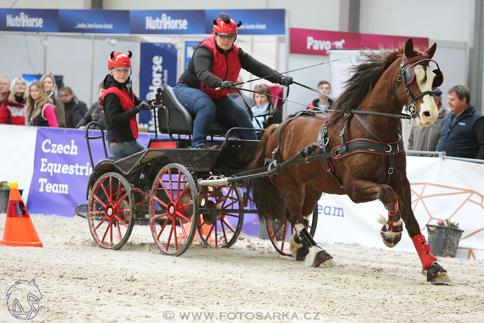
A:
POLYGON ((434 224, 426 224, 426 226, 431 252, 436 256, 455 257, 460 237, 464 231, 434 224))

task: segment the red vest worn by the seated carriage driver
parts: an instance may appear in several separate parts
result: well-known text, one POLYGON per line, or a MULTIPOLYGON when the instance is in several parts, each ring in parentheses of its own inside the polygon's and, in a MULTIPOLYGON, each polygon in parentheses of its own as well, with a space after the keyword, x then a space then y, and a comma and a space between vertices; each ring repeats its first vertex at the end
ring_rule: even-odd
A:
MULTIPOLYGON (((213 52, 213 63, 210 73, 225 81, 237 82, 238 74, 240 73, 242 66, 238 60, 238 47, 236 45, 233 45, 233 49, 228 53, 222 53, 215 47, 215 36, 211 36, 206 38, 200 46, 206 46, 213 52)), ((229 89, 216 91, 215 89, 206 87, 203 82, 201 82, 200 90, 207 93, 212 100, 219 99, 234 92, 234 90, 229 89)))

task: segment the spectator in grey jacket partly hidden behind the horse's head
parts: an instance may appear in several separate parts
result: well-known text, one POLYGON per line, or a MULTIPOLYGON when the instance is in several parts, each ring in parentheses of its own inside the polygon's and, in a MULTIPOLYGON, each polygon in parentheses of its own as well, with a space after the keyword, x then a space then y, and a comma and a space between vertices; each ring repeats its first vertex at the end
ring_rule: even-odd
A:
MULTIPOLYGON (((442 91, 439 88, 435 88, 432 92, 434 92, 435 104, 439 109, 439 117, 430 127, 420 127, 415 120, 412 121, 412 130, 410 132, 410 137, 408 137, 408 149, 435 151, 437 148, 442 122, 444 121, 444 117, 447 116, 450 111, 444 104, 442 104, 442 91)), ((415 156, 431 155, 415 154, 415 156)))

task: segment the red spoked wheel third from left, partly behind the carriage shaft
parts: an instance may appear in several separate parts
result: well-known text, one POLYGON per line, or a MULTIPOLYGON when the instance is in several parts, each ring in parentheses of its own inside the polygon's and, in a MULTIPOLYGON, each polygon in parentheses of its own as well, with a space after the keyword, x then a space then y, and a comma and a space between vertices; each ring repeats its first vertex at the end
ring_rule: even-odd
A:
POLYGON ((244 224, 244 213, 233 211, 244 208, 240 190, 236 187, 209 187, 200 207, 206 209, 200 215, 200 239, 216 248, 233 245, 244 224), (220 212, 210 212, 211 209, 220 212))

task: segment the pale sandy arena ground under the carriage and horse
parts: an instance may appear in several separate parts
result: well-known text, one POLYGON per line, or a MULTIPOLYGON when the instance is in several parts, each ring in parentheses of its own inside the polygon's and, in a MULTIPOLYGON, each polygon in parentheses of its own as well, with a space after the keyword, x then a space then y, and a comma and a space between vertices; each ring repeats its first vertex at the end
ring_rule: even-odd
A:
MULTIPOLYGON (((321 269, 280 256, 256 237, 240 237, 230 249, 193 245, 170 257, 147 226, 135 226, 113 251, 94 244, 85 219, 31 217, 43 248, 0 245, 2 322, 20 321, 7 309, 6 291, 33 278, 43 295, 34 322, 484 321, 482 261, 442 258, 452 281, 431 285, 416 254, 383 243, 322 244, 334 267, 321 269)), ((0 214, 0 237, 4 223, 0 214)))

